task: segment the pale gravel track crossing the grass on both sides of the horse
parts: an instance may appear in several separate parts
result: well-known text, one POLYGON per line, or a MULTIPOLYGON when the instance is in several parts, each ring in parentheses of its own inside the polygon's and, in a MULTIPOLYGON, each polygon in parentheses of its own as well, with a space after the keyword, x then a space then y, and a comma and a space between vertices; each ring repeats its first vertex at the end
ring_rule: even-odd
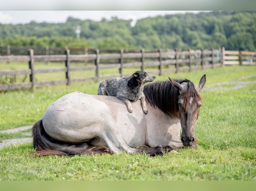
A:
MULTIPOLYGON (((246 79, 249 79, 252 77, 256 77, 256 74, 244 76, 234 81, 211 84, 209 87, 204 87, 202 91, 227 91, 227 90, 236 90, 236 89, 244 88, 246 85, 256 83, 256 81, 245 81, 246 79), (229 87, 225 87, 225 85, 228 85, 229 87)), ((15 133, 15 132, 27 130, 30 128, 32 128, 32 125, 3 130, 3 131, 0 131, 0 133, 15 133)), ((20 144, 20 143, 26 143, 31 141, 32 141, 31 137, 4 140, 3 142, 0 143, 0 149, 3 148, 4 146, 8 146, 11 144, 20 144)))

